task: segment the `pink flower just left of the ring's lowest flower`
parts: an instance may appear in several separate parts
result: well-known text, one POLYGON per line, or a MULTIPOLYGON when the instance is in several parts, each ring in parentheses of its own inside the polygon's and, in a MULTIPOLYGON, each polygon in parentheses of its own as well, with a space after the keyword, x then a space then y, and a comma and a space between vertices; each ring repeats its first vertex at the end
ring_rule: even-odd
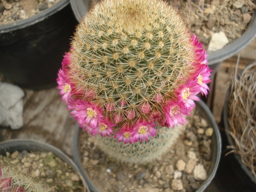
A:
POLYGON ((92 130, 92 134, 96 135, 99 133, 102 137, 111 136, 113 133, 113 127, 115 124, 112 124, 109 120, 104 119, 98 124, 98 126, 92 130))

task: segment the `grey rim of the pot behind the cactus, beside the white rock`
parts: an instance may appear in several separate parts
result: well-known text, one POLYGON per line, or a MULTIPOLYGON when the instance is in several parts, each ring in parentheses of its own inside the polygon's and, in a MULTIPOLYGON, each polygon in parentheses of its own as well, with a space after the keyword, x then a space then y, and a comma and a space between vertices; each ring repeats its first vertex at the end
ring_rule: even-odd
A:
MULTIPOLYGON (((89 0, 70 0, 70 4, 76 20, 81 21, 84 14, 88 12, 90 7, 89 0)), ((208 66, 219 64, 220 62, 234 56, 236 53, 244 49, 256 37, 256 10, 252 14, 252 18, 242 36, 234 42, 224 46, 222 49, 208 53, 208 66)), ((217 69, 216 69, 217 70, 217 69)))

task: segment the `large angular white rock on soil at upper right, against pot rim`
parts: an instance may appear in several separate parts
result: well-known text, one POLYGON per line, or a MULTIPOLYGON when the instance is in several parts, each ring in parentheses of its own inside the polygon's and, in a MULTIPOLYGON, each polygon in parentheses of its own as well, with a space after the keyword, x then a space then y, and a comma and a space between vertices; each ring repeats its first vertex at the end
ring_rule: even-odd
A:
POLYGON ((208 46, 208 52, 220 50, 226 44, 228 44, 228 38, 224 32, 214 33, 208 46))

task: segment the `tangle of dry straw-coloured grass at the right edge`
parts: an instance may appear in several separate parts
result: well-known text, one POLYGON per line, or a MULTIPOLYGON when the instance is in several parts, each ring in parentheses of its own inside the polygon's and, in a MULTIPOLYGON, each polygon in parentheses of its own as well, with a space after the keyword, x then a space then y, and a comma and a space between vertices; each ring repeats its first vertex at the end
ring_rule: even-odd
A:
POLYGON ((230 134, 242 162, 256 177, 256 62, 232 80, 229 101, 230 134))

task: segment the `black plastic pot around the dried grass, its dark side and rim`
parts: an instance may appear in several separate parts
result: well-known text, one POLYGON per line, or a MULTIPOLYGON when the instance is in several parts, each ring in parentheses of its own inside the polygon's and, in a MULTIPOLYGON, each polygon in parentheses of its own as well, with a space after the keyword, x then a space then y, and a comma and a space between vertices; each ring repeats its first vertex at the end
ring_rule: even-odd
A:
POLYGON ((224 131, 221 131, 223 154, 216 174, 216 181, 224 192, 256 191, 256 178, 243 164, 241 158, 235 153, 226 155, 229 152, 227 146, 235 146, 232 136, 228 133, 230 130, 228 123, 228 98, 230 96, 230 90, 231 87, 226 93, 222 111, 221 126, 224 128, 224 131))

